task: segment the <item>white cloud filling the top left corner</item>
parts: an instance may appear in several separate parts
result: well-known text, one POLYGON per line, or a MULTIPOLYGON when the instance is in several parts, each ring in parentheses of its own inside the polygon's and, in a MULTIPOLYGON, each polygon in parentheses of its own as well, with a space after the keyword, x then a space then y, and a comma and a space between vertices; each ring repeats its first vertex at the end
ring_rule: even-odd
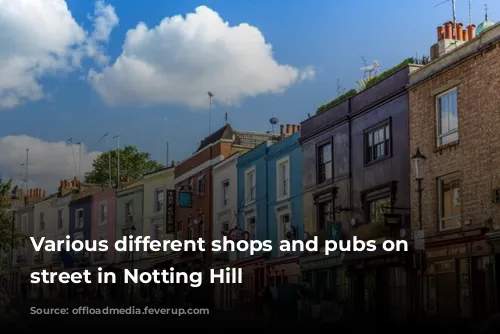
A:
POLYGON ((98 1, 93 23, 86 32, 64 0, 0 0, 0 109, 43 98, 40 78, 79 68, 84 56, 104 62, 113 7, 98 1))

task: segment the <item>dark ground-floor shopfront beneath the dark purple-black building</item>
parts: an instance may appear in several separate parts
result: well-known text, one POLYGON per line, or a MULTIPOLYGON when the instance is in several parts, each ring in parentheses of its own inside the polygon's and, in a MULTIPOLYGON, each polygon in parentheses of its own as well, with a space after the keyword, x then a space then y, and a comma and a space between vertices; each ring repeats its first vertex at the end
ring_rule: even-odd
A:
POLYGON ((350 310, 355 318, 405 323, 411 316, 412 261, 410 252, 346 253, 350 310))

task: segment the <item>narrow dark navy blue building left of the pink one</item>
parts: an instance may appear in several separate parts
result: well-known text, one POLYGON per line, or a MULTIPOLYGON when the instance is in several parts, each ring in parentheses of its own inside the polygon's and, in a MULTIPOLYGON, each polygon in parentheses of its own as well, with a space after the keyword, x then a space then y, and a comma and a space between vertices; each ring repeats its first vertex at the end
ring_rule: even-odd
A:
MULTIPOLYGON (((92 196, 74 199, 69 203, 69 235, 71 240, 90 240, 92 225, 92 196)), ((71 252, 74 261, 85 264, 89 254, 85 252, 71 252)))

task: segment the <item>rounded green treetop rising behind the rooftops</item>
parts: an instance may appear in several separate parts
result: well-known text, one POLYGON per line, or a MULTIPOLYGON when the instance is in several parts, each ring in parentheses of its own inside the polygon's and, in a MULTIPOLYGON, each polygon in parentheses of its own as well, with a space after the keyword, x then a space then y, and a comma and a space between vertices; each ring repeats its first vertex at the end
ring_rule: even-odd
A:
MULTIPOLYGON (((109 156, 111 156, 111 185, 118 179, 118 150, 100 154, 92 164, 92 171, 85 176, 85 182, 109 185, 109 156)), ((142 175, 153 172, 163 165, 151 159, 147 152, 139 152, 135 146, 125 146, 120 152, 120 177, 130 177, 131 182, 140 180, 142 175)))

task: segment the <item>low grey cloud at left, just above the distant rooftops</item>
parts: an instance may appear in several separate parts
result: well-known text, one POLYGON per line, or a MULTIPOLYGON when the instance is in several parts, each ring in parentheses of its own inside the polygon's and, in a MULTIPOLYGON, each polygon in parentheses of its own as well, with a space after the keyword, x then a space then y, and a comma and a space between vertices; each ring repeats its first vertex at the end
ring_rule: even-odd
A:
MULTIPOLYGON (((47 142, 26 135, 0 138, 0 170, 5 179, 19 180, 24 174, 26 149, 29 148, 28 178, 31 186, 53 191, 59 186, 59 180, 72 179, 75 176, 75 161, 78 170, 79 147, 73 148, 65 142, 47 142), (74 156, 74 158, 73 158, 74 156), (75 160, 73 160, 75 159, 75 160)), ((89 152, 85 145, 81 149, 80 174, 92 169, 92 162, 100 152, 89 152)))

